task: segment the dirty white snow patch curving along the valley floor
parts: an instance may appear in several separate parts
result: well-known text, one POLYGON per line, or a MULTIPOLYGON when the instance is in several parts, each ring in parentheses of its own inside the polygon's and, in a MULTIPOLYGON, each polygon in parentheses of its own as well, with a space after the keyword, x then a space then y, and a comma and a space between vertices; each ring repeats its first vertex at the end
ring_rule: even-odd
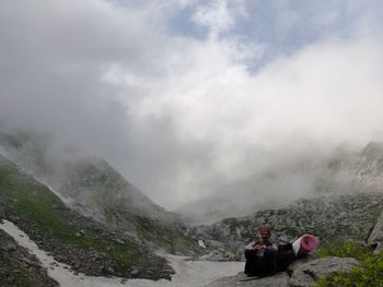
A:
POLYGON ((62 287, 202 287, 216 279, 233 276, 244 267, 243 262, 210 262, 188 261, 186 258, 166 254, 175 271, 172 280, 158 282, 148 279, 124 279, 118 277, 94 277, 84 274, 74 275, 69 271, 70 266, 59 263, 40 250, 28 236, 20 230, 11 222, 3 219, 0 228, 14 238, 14 240, 31 254, 35 254, 47 268, 48 275, 56 279, 62 287))

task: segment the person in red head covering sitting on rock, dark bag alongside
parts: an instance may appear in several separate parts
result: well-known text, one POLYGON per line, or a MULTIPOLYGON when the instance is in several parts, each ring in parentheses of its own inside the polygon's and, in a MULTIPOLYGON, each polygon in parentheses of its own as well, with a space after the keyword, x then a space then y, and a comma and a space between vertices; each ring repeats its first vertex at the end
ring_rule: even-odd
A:
POLYGON ((270 240, 271 228, 259 228, 260 239, 245 247, 245 274, 248 276, 267 276, 281 272, 294 260, 292 244, 277 246, 270 240))

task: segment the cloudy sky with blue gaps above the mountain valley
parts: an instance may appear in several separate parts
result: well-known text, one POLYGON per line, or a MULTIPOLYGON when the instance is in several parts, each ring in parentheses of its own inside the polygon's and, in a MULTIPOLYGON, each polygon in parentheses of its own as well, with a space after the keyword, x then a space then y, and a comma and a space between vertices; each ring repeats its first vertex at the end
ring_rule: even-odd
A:
POLYGON ((4 0, 0 122, 172 210, 280 158, 383 141, 379 0, 4 0))

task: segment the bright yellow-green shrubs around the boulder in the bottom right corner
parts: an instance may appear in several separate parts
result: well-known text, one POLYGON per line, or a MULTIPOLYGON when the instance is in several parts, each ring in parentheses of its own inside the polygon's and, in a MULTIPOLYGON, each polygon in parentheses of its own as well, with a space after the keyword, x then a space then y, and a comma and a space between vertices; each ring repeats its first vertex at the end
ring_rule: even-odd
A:
POLYGON ((371 250, 350 240, 323 247, 316 255, 355 258, 362 263, 361 266, 352 267, 350 273, 338 273, 317 280, 316 287, 383 286, 383 253, 373 254, 371 250))

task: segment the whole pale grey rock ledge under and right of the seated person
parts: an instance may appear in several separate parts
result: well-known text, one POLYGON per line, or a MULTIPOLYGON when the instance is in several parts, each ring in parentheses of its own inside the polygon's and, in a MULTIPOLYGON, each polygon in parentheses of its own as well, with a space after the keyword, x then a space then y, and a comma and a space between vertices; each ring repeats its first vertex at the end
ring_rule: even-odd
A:
POLYGON ((260 279, 246 280, 248 277, 244 273, 239 273, 235 276, 214 280, 207 287, 309 287, 327 275, 338 272, 348 273, 356 265, 360 263, 352 258, 328 256, 309 262, 297 261, 289 268, 291 277, 289 273, 283 272, 260 279))

